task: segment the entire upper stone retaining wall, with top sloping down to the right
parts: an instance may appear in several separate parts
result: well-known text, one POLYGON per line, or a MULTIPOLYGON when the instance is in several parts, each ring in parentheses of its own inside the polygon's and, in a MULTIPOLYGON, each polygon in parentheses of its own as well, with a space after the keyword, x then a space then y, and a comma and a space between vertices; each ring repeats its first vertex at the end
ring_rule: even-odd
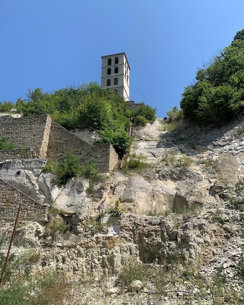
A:
POLYGON ((8 159, 63 159, 73 150, 82 164, 94 160, 100 172, 109 172, 118 156, 110 143, 92 145, 51 120, 49 115, 0 118, 0 137, 8 136, 15 149, 0 150, 0 161, 8 159))

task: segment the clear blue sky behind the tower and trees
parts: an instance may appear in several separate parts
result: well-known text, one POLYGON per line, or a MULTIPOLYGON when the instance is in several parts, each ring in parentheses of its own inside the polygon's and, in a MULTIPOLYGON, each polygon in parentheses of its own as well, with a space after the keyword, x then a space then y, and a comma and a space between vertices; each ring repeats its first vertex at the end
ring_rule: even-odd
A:
POLYGON ((100 83, 101 56, 126 52, 130 99, 166 116, 243 12, 243 0, 0 0, 0 101, 100 83))

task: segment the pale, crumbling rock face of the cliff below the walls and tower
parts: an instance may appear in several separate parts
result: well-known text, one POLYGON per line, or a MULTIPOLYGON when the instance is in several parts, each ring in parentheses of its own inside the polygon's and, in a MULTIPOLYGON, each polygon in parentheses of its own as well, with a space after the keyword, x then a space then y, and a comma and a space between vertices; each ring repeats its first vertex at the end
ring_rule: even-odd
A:
MULTIPOLYGON (((243 205, 244 192, 244 142, 239 132, 242 120, 215 130, 184 123, 172 133, 162 132, 162 121, 157 120, 134 133, 132 151, 147 156, 149 167, 129 174, 115 170, 95 186, 87 179, 72 178, 58 188, 52 174, 42 173, 46 163, 43 159, 1 162, 0 178, 41 204, 52 203, 60 212, 56 220, 65 227, 48 236, 48 225, 56 224, 53 219, 45 227, 23 222, 17 229, 13 252, 18 256, 26 247, 40 251, 40 262, 31 272, 59 270, 71 281, 112 276, 113 283, 103 288, 109 297, 119 298, 115 277, 131 262, 167 270, 175 262, 179 266, 188 264, 210 282, 223 270, 226 286, 233 286, 239 293, 243 285, 238 268, 244 245, 244 214, 236 206, 243 205), (166 162, 166 156, 171 156, 170 162, 166 162), (184 158, 191 162, 178 162, 184 158), (118 201, 124 214, 112 217, 109 209, 118 201), (231 209, 235 202, 238 204, 231 209)), ((12 224, 1 223, 0 236, 10 234, 11 228, 12 224)), ((6 253, 7 244, 3 245, 0 254, 6 253)), ((181 276, 171 275, 173 285, 175 277, 181 276)), ((154 275, 150 277, 149 282, 154 275)), ((139 279, 126 288, 153 294, 156 288, 139 279)), ((214 303, 207 296, 203 299, 192 282, 187 275, 179 290, 191 291, 203 304, 214 303)), ((172 285, 171 290, 175 290, 172 285)), ((184 293, 175 293, 173 303, 189 303, 184 293)), ((167 303, 168 296, 160 301, 167 303)), ((94 302, 88 303, 96 302, 94 297, 94 302)), ((114 304, 122 303, 123 298, 114 304)))

